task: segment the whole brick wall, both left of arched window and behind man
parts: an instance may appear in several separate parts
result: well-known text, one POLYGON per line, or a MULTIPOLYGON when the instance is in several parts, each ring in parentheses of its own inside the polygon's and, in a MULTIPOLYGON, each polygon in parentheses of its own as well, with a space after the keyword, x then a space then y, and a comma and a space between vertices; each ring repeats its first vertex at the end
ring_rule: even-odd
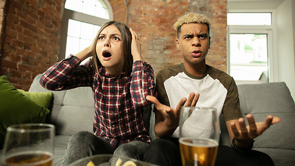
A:
MULTIPOLYGON (((142 56, 153 66, 155 74, 166 66, 182 62, 172 26, 186 12, 201 12, 211 18, 207 62, 226 71, 227 0, 109 2, 114 20, 128 24, 140 37, 142 56)), ((0 0, 0 29, 3 30, 0 75, 7 75, 18 89, 28 90, 35 75, 57 62, 62 8, 64 0, 0 0)))

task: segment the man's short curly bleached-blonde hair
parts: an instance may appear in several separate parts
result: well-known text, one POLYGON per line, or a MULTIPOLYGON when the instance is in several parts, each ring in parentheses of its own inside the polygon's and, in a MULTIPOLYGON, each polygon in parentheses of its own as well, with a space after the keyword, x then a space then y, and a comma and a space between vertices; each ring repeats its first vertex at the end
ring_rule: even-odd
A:
POLYGON ((180 28, 183 24, 206 24, 208 26, 208 33, 210 29, 210 19, 202 14, 196 12, 189 12, 186 15, 178 18, 178 21, 175 22, 173 28, 177 30, 177 34, 180 33, 180 28))

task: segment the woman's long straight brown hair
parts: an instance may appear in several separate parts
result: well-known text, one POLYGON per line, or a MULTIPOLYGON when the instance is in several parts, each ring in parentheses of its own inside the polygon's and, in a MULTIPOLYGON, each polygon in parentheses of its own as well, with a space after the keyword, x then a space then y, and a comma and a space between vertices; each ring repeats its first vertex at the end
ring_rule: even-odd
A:
MULTIPOLYGON (((130 32, 128 26, 126 26, 125 24, 123 24, 121 22, 109 21, 106 24, 104 24, 102 26, 102 28, 100 28, 98 30, 98 33, 95 36, 95 39, 93 40, 94 44, 91 48, 93 57, 92 57, 91 61, 89 62, 89 66, 94 67, 99 75, 99 68, 102 66, 102 64, 101 64, 101 62, 99 62, 95 47, 97 44, 98 37, 99 37, 100 33, 102 33, 102 30, 104 30, 104 28, 106 28, 107 26, 111 26, 111 25, 114 25, 115 27, 117 27, 117 29, 120 31, 121 37, 122 37, 123 63, 117 67, 118 72, 117 72, 117 75, 115 75, 115 78, 119 79, 123 72, 126 74, 131 73, 132 65, 133 65, 133 56, 131 55, 132 35, 131 35, 131 32, 130 32), (123 66, 121 66, 121 65, 123 65, 123 66)), ((100 75, 99 75, 99 77, 100 77, 100 75)))

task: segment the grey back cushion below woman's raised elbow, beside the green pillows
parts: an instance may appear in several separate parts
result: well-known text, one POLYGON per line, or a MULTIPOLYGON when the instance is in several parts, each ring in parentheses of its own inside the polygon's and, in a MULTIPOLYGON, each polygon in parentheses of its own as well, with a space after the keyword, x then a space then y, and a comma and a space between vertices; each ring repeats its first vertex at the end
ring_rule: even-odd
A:
POLYGON ((56 120, 57 134, 73 135, 77 131, 93 131, 94 99, 90 87, 66 91, 56 120))

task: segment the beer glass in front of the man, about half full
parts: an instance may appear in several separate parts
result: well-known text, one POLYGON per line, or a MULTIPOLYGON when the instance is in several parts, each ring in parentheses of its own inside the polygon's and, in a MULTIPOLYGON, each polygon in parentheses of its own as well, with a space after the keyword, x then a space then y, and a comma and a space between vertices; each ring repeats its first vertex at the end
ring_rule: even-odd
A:
POLYGON ((216 109, 182 107, 179 142, 182 166, 213 166, 220 136, 216 109))

